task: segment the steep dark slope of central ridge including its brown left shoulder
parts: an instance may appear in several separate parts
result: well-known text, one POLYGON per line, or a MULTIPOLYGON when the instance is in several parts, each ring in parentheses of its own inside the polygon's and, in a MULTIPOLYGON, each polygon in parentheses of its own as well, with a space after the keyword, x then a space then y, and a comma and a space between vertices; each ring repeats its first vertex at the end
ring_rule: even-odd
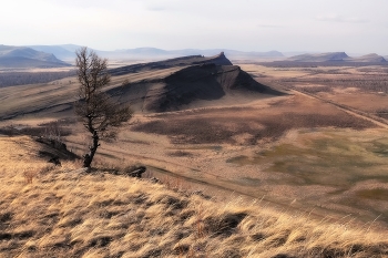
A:
MULTIPOLYGON (((205 63, 186 66, 162 79, 130 83, 123 89, 121 99, 131 102, 135 110, 165 112, 196 106, 198 101, 216 102, 236 95, 258 97, 264 94, 282 93, 256 82, 237 65, 205 63)), ((238 100, 235 104, 242 99, 238 100)))

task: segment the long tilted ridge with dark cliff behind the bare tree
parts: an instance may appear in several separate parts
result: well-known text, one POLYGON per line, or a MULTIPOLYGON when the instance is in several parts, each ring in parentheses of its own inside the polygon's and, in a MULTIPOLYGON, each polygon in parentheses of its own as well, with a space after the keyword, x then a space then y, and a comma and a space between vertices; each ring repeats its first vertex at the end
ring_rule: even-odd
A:
MULTIPOLYGON (((120 102, 131 103, 135 112, 243 104, 282 94, 256 82, 239 66, 233 65, 224 53, 135 64, 110 72, 113 76, 108 92, 120 102), (125 85, 122 85, 123 81, 125 85)), ((45 115, 72 113, 78 84, 71 81, 75 79, 0 89, 0 118, 42 112, 45 115)))

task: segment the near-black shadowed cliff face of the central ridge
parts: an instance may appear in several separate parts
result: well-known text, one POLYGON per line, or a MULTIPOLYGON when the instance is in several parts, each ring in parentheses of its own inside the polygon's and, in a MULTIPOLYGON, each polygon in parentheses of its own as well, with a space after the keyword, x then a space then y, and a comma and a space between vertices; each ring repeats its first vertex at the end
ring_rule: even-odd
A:
POLYGON ((237 65, 214 63, 183 69, 165 78, 163 84, 159 90, 149 92, 144 103, 147 111, 175 111, 198 100, 215 101, 234 92, 277 93, 256 82, 237 65))

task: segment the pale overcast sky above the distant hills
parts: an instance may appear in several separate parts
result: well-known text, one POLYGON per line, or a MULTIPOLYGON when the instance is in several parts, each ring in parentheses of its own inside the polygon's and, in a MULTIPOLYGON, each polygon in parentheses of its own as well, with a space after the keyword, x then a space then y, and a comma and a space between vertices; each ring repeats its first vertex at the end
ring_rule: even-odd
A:
POLYGON ((0 44, 388 54, 388 0, 1 0, 0 44))

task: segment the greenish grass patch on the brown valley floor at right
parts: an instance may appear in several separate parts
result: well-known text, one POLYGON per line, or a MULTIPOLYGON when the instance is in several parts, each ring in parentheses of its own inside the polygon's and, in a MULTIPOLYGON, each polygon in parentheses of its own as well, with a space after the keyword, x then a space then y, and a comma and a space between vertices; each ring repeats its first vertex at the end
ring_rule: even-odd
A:
POLYGON ((255 156, 228 158, 238 165, 263 165, 267 173, 292 175, 283 183, 295 185, 327 185, 343 189, 366 179, 387 182, 388 140, 356 141, 338 133, 305 138, 303 146, 279 144, 255 156))

